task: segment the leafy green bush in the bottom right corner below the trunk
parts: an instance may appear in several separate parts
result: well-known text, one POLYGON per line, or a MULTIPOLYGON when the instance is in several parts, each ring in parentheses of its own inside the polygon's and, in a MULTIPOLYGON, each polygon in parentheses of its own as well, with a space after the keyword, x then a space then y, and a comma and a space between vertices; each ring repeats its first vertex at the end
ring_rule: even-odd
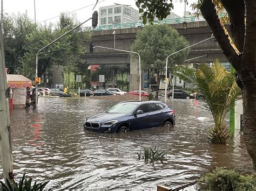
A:
POLYGON ((241 175, 233 170, 216 168, 198 183, 203 190, 256 190, 256 174, 241 175))

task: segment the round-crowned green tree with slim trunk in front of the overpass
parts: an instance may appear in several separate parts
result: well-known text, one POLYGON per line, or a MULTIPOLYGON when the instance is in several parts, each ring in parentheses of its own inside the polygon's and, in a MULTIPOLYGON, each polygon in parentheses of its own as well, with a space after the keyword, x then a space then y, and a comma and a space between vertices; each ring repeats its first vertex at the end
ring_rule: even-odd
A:
MULTIPOLYGON (((143 69, 156 71, 156 98, 158 98, 161 77, 165 74, 167 56, 187 46, 188 41, 177 30, 171 29, 168 25, 145 26, 143 30, 138 32, 131 49, 140 54, 143 69)), ((173 63, 180 63, 185 60, 188 52, 189 49, 186 49, 169 57, 169 67, 173 63)))

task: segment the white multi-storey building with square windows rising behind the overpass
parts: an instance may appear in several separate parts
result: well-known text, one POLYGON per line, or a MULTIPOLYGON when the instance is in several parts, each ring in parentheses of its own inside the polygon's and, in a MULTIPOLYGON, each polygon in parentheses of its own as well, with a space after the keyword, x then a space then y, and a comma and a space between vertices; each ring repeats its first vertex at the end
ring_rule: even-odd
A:
POLYGON ((139 21, 139 11, 130 7, 114 3, 114 5, 99 8, 99 26, 136 23, 139 21))

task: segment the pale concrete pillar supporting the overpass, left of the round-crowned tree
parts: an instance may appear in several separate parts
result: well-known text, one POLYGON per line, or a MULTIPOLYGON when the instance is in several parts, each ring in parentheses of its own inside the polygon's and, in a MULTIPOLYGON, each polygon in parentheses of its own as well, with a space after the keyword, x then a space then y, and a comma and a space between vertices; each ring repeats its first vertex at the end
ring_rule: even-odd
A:
MULTIPOLYGON (((138 90, 139 89, 139 82, 137 81, 137 77, 139 75, 139 57, 130 56, 130 91, 138 90)), ((142 77, 143 81, 143 77, 142 77)))

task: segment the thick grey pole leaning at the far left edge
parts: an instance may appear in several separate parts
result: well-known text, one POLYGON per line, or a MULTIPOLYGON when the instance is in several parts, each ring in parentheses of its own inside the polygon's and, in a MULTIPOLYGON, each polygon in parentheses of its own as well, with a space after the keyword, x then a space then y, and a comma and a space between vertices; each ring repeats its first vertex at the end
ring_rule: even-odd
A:
MULTIPOLYGON (((2 1, 3 2, 3 1, 2 1)), ((10 142, 10 113, 9 104, 7 102, 6 73, 4 60, 4 44, 3 44, 3 25, 0 22, 0 145, 4 179, 8 179, 11 185, 14 185, 14 179, 10 178, 12 174, 12 151, 10 142)))

